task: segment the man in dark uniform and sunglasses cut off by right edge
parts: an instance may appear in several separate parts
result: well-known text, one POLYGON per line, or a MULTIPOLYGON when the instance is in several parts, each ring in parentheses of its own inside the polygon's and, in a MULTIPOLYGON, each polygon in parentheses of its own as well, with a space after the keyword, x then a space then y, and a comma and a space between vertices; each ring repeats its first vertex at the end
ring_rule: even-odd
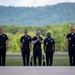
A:
POLYGON ((70 27, 70 33, 66 37, 66 47, 69 52, 70 66, 75 66, 75 33, 74 27, 70 27))

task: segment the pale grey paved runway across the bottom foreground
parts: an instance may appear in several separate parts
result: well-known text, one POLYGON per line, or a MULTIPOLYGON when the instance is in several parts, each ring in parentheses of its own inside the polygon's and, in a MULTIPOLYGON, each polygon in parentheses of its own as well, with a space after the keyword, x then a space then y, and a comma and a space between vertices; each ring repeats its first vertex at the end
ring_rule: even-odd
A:
POLYGON ((75 75, 75 67, 0 67, 0 75, 75 75))

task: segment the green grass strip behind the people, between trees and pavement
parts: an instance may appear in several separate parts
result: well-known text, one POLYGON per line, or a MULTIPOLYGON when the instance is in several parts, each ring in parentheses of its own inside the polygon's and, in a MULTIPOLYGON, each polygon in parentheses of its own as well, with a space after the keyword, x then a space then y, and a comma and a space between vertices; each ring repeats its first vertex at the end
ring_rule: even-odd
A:
MULTIPOLYGON (((7 54, 6 66, 23 66, 20 54, 7 54)), ((54 54, 53 66, 69 66, 68 54, 54 54)))

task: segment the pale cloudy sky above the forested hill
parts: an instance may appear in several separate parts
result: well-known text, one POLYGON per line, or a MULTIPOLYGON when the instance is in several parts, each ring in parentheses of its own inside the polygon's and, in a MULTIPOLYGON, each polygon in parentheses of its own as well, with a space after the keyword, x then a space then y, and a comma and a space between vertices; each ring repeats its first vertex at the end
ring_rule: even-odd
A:
POLYGON ((45 5, 54 5, 63 2, 75 2, 75 0, 0 0, 0 5, 4 6, 25 6, 25 7, 37 7, 45 5))

